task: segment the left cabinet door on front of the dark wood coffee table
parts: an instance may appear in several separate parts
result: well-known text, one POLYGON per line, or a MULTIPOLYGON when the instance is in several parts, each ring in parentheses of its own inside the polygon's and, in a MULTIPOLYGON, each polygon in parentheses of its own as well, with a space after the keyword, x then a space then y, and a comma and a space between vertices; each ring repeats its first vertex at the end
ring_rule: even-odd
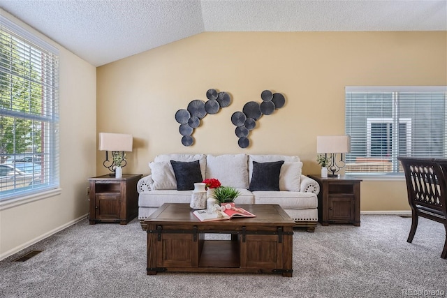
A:
POLYGON ((156 246, 157 267, 198 267, 198 241, 192 234, 162 234, 156 246))

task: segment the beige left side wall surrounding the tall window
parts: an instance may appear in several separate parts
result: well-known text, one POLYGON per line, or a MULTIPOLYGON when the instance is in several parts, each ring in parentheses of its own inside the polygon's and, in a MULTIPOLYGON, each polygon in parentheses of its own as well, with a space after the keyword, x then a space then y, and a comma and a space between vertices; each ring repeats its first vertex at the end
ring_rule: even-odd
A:
MULTIPOLYGON (((0 13, 33 31, 3 10, 0 13)), ((85 216, 87 177, 96 174, 96 68, 44 36, 41 38, 60 50, 61 194, 1 209, 0 260, 85 216)))

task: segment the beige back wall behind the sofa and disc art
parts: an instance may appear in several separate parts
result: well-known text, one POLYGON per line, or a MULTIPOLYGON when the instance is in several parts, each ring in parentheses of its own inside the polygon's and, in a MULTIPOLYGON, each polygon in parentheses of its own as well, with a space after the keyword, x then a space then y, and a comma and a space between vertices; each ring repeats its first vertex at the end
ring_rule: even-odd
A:
MULTIPOLYGON (((446 85, 446 32, 201 33, 97 69, 98 132, 132 133, 124 172, 157 154, 296 154, 318 173, 316 136, 344 133, 344 87, 446 85), (175 112, 214 88, 233 102, 207 115, 184 147, 175 112), (230 117, 261 91, 286 96, 237 146, 230 117)), ((103 152, 97 171, 105 173, 103 152)), ((403 181, 363 181, 362 211, 408 210, 403 181)))

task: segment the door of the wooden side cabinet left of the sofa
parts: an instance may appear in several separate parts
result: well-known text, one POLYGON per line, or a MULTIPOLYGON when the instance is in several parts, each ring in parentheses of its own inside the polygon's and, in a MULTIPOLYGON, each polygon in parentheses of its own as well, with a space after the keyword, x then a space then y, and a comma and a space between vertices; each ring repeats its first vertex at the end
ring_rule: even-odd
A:
POLYGON ((96 193, 95 218, 100 220, 118 220, 121 207, 119 193, 96 193))

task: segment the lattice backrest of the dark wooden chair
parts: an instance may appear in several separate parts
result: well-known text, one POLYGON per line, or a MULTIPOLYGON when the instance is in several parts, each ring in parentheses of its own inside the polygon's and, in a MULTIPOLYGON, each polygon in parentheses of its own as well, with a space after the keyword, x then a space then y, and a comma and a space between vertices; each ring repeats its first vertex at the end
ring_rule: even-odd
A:
POLYGON ((404 168, 409 204, 446 217, 447 160, 397 158, 404 168), (443 171, 444 167, 444 171, 443 171))

